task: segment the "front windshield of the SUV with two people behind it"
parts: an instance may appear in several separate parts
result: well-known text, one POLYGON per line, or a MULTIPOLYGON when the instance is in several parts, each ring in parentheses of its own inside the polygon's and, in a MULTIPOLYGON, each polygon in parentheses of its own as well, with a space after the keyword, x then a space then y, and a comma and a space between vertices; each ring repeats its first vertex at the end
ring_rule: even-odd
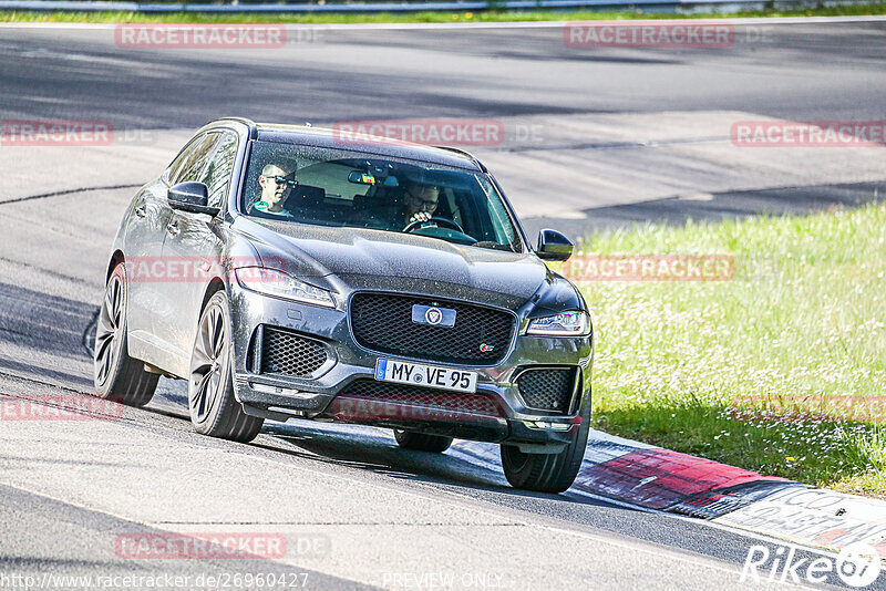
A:
POLYGON ((522 250, 488 178, 416 160, 257 141, 240 205, 258 218, 522 250))

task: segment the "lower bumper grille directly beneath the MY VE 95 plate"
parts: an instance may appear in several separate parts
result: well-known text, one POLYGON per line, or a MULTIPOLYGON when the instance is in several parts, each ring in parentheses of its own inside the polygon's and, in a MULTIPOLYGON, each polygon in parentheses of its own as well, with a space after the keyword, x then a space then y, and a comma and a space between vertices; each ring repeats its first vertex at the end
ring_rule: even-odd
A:
MULTIPOLYGON (((388 384, 378 382, 375 380, 354 380, 349 385, 339 392, 340 398, 364 398, 370 404, 367 405, 365 411, 373 412, 372 403, 394 403, 406 406, 422 407, 431 409, 429 414, 425 411, 416 409, 416 414, 411 418, 420 419, 422 417, 434 418, 434 412, 445 414, 472 414, 484 416, 503 416, 502 405, 497 396, 494 394, 467 394, 443 392, 430 387, 410 386, 401 384, 388 384)), ((343 404, 338 405, 339 408, 346 407, 343 404)), ((378 413, 389 411, 384 404, 379 404, 375 409, 378 413)), ((402 411, 395 411, 399 416, 405 416, 402 411)))

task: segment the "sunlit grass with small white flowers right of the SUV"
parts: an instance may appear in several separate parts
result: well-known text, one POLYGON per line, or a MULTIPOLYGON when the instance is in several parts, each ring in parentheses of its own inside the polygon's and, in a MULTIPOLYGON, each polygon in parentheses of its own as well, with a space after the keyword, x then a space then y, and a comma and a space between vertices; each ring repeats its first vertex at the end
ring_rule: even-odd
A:
POLYGON ((886 497, 886 205, 594 236, 588 253, 722 253, 731 280, 579 283, 596 426, 886 497))

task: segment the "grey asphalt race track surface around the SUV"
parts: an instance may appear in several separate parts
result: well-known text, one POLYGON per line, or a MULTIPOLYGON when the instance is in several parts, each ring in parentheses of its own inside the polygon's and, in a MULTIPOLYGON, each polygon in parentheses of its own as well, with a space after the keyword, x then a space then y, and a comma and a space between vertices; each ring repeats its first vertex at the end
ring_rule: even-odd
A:
MULTIPOLYGON (((532 224, 571 224, 575 235, 687 211, 879 199, 882 148, 740 153, 724 133, 738 120, 886 120, 886 23, 758 32, 765 41, 727 51, 577 51, 540 27, 328 30, 274 52, 181 52, 122 49, 107 29, 0 28, 3 120, 110 121, 136 138, 0 146, 0 396, 90 391, 90 326, 131 186, 222 115, 537 129, 538 142, 515 134, 477 152, 532 224)), ((748 587, 740 564, 761 543, 571 492, 516 491, 501 469, 406 453, 380 429, 289 423, 248 446, 208 439, 190 431, 184 396, 163 380, 147 408, 113 421, 0 423, 0 572, 307 572, 313 589, 414 589, 420 579, 405 577, 430 573, 506 589, 719 589, 748 587), (163 531, 279 532, 289 551, 245 561, 115 552, 121 533, 163 531)))

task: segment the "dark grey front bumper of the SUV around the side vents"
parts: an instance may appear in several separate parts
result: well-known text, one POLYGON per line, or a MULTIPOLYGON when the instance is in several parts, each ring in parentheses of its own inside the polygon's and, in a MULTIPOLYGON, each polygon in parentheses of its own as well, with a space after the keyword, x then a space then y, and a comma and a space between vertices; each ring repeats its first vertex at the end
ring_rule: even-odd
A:
MULTIPOLYGON (((556 339, 524 336, 526 309, 517 310, 517 336, 504 360, 492 367, 472 367, 410 360, 373 353, 358 344, 351 333, 348 314, 342 309, 324 309, 262 296, 229 286, 234 321, 234 385, 237 400, 251 414, 285 419, 290 416, 372 424, 463 439, 542 445, 546 448, 567 444, 581 416, 587 417, 590 390, 584 386, 590 373, 593 335, 556 339), (328 361, 310 377, 256 373, 248 351, 259 325, 278 326, 324 344, 328 361), (476 397, 457 392, 435 391, 451 397, 444 408, 421 403, 373 401, 349 394, 357 381, 373 380, 379 357, 403 359, 419 363, 455 366, 476 371, 476 397), (515 379, 526 367, 577 366, 575 401, 570 414, 538 411, 526 405, 515 379), (490 412, 488 405, 496 406, 490 412)), ((343 308, 343 305, 342 305, 343 308)), ((525 447, 525 445, 522 445, 525 447)), ((528 450, 528 447, 526 448, 528 450)))

